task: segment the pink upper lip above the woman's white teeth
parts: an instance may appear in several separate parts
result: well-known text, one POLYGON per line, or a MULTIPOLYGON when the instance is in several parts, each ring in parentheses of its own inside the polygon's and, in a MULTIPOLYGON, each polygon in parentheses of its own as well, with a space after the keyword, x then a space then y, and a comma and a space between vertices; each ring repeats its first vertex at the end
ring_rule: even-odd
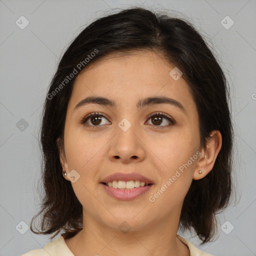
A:
POLYGON ((104 179, 101 180, 101 183, 107 183, 111 182, 113 180, 123 180, 123 181, 129 181, 129 180, 139 180, 140 182, 145 182, 147 184, 153 184, 153 181, 150 179, 146 178, 145 176, 138 174, 138 173, 114 173, 111 174, 104 179))

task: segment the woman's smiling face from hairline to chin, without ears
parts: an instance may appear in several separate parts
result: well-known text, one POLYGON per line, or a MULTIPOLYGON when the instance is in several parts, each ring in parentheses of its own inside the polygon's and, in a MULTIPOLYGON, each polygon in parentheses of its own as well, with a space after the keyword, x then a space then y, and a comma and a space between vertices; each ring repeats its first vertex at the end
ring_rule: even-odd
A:
POLYGON ((76 78, 60 159, 67 173, 73 170, 71 184, 83 215, 114 229, 126 221, 133 230, 179 217, 200 140, 195 102, 182 76, 169 74, 174 67, 151 51, 112 53, 76 78), (113 104, 101 100, 76 107, 87 97, 113 104), (144 101, 148 97, 169 101, 144 101), (135 198, 116 198, 101 182, 120 172, 152 183, 135 198))

